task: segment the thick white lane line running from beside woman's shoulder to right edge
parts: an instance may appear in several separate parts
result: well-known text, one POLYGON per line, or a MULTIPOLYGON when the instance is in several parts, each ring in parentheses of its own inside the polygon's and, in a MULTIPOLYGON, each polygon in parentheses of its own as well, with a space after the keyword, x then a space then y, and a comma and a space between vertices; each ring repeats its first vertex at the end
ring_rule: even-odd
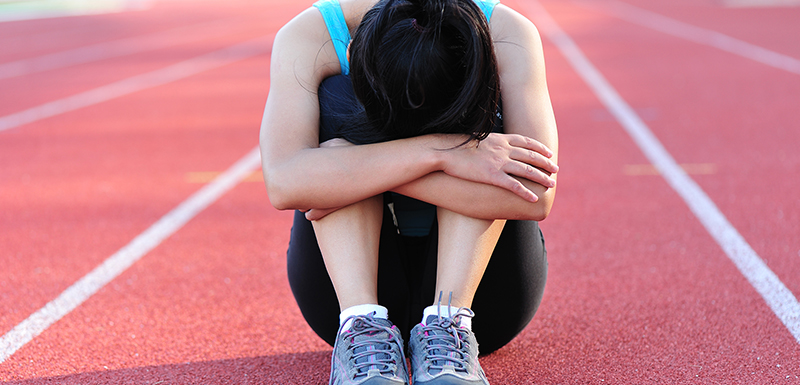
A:
POLYGON ((575 71, 633 138, 644 155, 661 172, 667 183, 683 198, 728 258, 786 325, 795 340, 800 342, 800 303, 792 292, 728 222, 711 198, 686 175, 650 128, 592 65, 544 7, 535 0, 520 1, 518 4, 526 9, 536 26, 558 47, 575 71))

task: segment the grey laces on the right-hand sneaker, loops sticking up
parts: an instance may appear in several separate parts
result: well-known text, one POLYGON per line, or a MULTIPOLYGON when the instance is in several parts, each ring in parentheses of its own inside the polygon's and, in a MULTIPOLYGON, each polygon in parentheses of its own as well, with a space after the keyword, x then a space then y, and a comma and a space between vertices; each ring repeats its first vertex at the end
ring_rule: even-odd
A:
MULTIPOLYGON (((453 293, 447 301, 448 309, 453 299, 453 293)), ((439 293, 439 304, 442 302, 442 293, 439 293)), ((469 345, 465 343, 468 331, 461 329, 459 323, 462 317, 472 318, 475 313, 466 307, 461 307, 452 314, 448 310, 447 317, 442 317, 439 306, 438 318, 435 322, 422 328, 422 339, 425 342, 427 361, 431 362, 430 369, 443 370, 445 366, 452 366, 459 372, 467 371, 469 358, 469 345)))

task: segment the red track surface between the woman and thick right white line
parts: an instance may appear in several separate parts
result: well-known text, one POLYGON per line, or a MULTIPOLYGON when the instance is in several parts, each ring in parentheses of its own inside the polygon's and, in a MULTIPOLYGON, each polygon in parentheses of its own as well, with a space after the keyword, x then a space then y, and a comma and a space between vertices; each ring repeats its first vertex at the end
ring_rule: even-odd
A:
POLYGON ((572 155, 560 158, 559 198, 542 224, 550 256, 542 307, 520 338, 483 360, 490 380, 769 383, 793 375, 775 370, 797 354, 785 327, 663 180, 624 173, 646 160, 616 123, 594 118, 599 103, 546 48, 561 153, 572 155))

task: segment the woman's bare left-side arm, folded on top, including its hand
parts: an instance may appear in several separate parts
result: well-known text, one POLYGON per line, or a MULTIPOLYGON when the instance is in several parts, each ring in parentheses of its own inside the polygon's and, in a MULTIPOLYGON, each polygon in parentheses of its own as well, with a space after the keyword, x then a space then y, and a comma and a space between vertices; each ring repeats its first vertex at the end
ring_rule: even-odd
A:
MULTIPOLYGON (((447 173, 447 180, 493 184, 524 197, 520 200, 536 200, 533 192, 509 175, 546 183, 541 171, 527 166, 537 164, 526 157, 542 151, 541 144, 524 138, 520 141, 521 137, 505 147, 481 145, 452 150, 443 149, 455 147, 463 137, 426 135, 362 146, 319 148, 316 90, 325 77, 338 72, 330 37, 315 9, 301 13, 276 36, 270 94, 260 136, 262 170, 270 201, 276 208, 342 207, 439 171, 447 173), (511 159, 511 153, 518 160, 511 159), (481 167, 475 171, 463 166, 470 162, 481 167)), ((460 203, 472 202, 469 197, 460 203)))

